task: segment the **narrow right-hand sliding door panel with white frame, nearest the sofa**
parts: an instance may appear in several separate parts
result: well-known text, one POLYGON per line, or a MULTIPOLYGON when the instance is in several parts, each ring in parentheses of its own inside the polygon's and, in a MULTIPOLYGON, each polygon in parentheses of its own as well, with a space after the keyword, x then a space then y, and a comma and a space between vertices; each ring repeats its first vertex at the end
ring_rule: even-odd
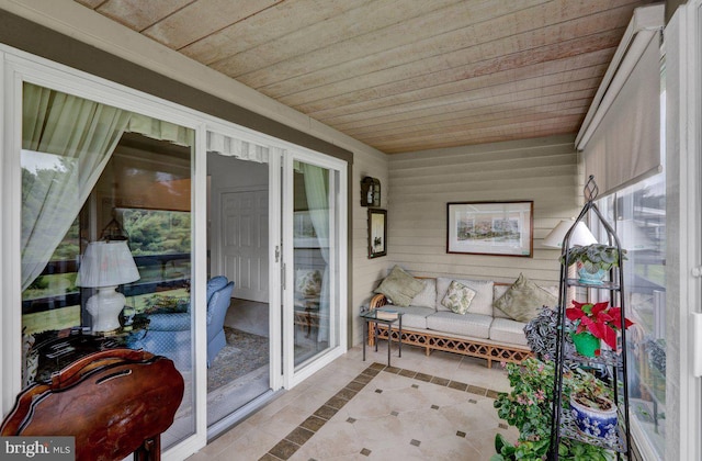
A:
POLYGON ((344 168, 302 154, 287 154, 285 161, 283 361, 290 383, 346 342, 344 168))

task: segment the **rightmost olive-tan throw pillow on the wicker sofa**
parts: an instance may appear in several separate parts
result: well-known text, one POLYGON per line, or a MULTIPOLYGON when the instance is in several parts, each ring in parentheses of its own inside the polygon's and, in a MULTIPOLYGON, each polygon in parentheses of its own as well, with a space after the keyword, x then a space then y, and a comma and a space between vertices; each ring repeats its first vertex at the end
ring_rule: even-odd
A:
POLYGON ((558 300, 523 274, 495 301, 495 307, 517 322, 529 322, 542 306, 554 306, 558 300))

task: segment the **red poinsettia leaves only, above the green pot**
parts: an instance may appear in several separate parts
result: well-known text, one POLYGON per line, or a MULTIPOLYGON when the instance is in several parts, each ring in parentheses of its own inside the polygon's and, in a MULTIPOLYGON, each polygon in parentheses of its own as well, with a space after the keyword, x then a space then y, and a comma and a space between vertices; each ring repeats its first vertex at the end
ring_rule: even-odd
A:
MULTIPOLYGON (((621 329, 622 308, 601 303, 578 303, 573 301, 573 307, 566 310, 566 317, 577 324, 576 334, 588 331, 596 338, 603 340, 616 350, 616 331, 621 329)), ((634 325, 624 318, 624 328, 634 325)))

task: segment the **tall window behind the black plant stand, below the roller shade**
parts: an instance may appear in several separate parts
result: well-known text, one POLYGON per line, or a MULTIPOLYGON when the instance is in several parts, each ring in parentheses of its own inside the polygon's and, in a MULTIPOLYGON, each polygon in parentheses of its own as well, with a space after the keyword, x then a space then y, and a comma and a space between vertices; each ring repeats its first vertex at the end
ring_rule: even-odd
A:
MULTIPOLYGON (((666 417, 666 181, 660 173, 598 201, 624 262, 630 416, 664 459, 666 417)), ((597 232, 598 229, 593 229, 597 232)), ((602 229, 599 229, 600 237, 602 229)), ((596 234, 597 235, 597 234, 596 234)), ((641 443, 641 440, 637 440, 641 443)))

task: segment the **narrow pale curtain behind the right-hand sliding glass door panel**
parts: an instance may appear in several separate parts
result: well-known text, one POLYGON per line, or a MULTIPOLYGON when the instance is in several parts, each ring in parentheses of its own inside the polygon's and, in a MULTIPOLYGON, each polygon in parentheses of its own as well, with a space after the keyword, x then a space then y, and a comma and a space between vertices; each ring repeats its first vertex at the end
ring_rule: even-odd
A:
POLYGON ((305 181, 305 194, 309 217, 317 234, 319 250, 324 258, 325 273, 321 278, 319 295, 319 317, 326 322, 319 323, 319 341, 329 340, 329 191, 325 170, 314 165, 299 162, 305 181))

